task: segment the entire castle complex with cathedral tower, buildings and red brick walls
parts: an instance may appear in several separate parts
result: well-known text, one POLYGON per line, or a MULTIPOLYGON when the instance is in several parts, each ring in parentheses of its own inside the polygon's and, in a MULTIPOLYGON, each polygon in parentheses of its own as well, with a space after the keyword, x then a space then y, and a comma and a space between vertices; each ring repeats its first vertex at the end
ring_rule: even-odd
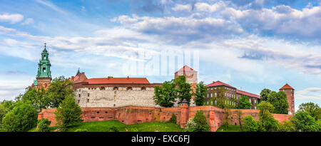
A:
MULTIPOLYGON (((49 53, 44 51, 41 53, 41 60, 38 65, 38 73, 36 80, 31 85, 33 88, 48 88, 51 83, 51 63, 49 61, 49 53)), ((175 72, 175 78, 185 75, 188 83, 195 90, 198 83, 198 71, 193 70, 189 66, 183 66, 175 72)), ((249 97, 252 108, 243 110, 245 115, 253 115, 258 119, 257 105, 260 101, 260 95, 248 93, 238 90, 232 85, 213 81, 206 85, 208 87, 205 105, 195 106, 193 99, 190 106, 187 103, 175 104, 173 108, 162 108, 156 105, 153 100, 154 87, 162 85, 161 83, 150 83, 147 78, 87 78, 85 73, 79 70, 75 76, 71 76, 73 90, 75 90, 76 103, 81 107, 83 115, 81 117, 86 121, 97 120, 118 120, 125 124, 135 124, 140 122, 167 121, 174 114, 177 116, 178 124, 181 127, 189 118, 193 118, 197 110, 203 110, 210 125, 210 131, 215 131, 223 125, 224 111, 217 108, 219 103, 225 104, 228 108, 236 108, 240 102, 241 95, 249 97)), ((295 113, 294 110, 294 89, 290 85, 284 85, 280 90, 287 95, 289 103, 288 115, 273 114, 275 119, 287 120, 295 113)), ((192 97, 193 98, 193 97, 192 97)), ((54 111, 56 109, 44 109, 39 113, 39 119, 48 118, 51 125, 56 123, 54 111)), ((236 118, 232 118, 230 123, 238 125, 236 118), (233 120, 234 119, 234 120, 233 120)))

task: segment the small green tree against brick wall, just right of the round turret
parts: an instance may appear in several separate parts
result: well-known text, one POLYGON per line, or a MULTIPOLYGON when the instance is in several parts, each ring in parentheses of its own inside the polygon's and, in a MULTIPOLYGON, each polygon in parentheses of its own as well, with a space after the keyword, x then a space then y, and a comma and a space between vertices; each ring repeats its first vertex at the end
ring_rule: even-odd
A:
POLYGON ((195 122, 195 132, 207 132, 210 131, 210 125, 208 125, 208 120, 206 120, 203 110, 198 110, 193 118, 195 122))

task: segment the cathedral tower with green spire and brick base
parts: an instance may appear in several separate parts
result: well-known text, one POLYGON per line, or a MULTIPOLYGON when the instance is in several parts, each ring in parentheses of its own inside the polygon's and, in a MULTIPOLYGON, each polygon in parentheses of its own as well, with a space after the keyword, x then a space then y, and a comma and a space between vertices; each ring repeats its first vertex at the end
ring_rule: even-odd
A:
POLYGON ((49 53, 46 50, 46 43, 44 45, 44 51, 41 53, 41 59, 38 63, 38 73, 36 80, 34 80, 34 87, 46 86, 51 83, 51 63, 49 61, 49 53))

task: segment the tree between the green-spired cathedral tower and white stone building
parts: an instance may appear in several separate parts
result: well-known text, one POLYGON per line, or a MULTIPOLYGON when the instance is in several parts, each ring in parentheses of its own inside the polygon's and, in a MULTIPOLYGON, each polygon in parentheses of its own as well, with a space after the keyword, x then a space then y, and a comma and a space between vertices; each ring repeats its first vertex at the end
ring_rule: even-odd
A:
POLYGON ((49 88, 47 89, 48 98, 51 100, 51 108, 58 108, 66 97, 73 97, 75 95, 72 86, 73 82, 64 76, 60 76, 52 80, 49 88))

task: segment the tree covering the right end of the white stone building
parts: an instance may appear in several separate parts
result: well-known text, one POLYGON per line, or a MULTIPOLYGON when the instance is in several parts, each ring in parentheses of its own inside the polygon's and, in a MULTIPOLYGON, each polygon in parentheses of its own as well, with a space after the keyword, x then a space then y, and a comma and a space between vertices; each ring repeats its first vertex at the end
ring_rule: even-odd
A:
POLYGON ((156 105, 166 108, 173 107, 175 99, 177 98, 173 80, 170 82, 165 81, 162 86, 156 85, 154 93, 155 95, 153 96, 153 100, 155 101, 156 105))

